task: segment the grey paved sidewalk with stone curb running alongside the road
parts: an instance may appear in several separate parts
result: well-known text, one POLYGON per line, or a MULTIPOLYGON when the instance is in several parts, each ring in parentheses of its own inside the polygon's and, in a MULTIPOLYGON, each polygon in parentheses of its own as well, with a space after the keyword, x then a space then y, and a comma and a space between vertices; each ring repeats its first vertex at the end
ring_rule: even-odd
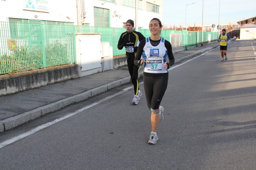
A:
MULTIPOLYGON (((175 63, 218 46, 214 42, 176 52, 175 63)), ((0 132, 130 82, 126 67, 0 97, 0 132)))

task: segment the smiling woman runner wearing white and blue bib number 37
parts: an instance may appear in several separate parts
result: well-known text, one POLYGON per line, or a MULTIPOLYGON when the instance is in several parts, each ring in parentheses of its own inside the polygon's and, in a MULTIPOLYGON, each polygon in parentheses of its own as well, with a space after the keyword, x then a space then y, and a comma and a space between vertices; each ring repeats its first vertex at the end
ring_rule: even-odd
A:
POLYGON ((159 121, 164 120, 164 107, 160 103, 167 88, 167 69, 175 63, 171 43, 160 37, 161 30, 161 21, 153 18, 149 22, 151 36, 139 43, 134 59, 135 65, 144 63, 144 90, 151 110, 151 134, 148 144, 155 144, 158 141, 157 126, 159 121))

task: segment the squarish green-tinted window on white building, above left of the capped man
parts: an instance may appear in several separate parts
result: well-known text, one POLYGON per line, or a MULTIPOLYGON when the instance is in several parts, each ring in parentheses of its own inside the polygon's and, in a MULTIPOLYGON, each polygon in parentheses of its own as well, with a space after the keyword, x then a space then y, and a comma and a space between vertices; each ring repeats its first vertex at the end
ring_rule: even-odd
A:
POLYGON ((94 7, 94 26, 109 27, 109 10, 94 7))

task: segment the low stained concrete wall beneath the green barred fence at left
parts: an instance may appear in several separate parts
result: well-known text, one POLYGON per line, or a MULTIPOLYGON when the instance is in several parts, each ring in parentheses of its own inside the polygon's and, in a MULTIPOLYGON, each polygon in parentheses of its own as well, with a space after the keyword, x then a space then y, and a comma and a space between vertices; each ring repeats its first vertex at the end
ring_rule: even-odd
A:
POLYGON ((47 69, 0 75, 0 96, 17 93, 78 78, 78 65, 55 66, 47 69))

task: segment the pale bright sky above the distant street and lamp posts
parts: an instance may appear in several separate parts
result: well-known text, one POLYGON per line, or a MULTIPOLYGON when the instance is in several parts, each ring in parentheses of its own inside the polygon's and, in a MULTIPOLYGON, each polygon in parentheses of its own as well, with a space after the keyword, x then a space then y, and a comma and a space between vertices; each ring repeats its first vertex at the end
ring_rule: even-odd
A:
POLYGON ((256 17, 255 0, 162 0, 166 27, 234 24, 256 17), (194 3, 195 2, 195 3, 194 3), (194 4, 192 4, 194 3, 194 4), (187 4, 189 4, 187 6, 187 4), (220 5, 219 5, 220 4, 220 5), (186 7, 187 6, 187 7, 186 7), (185 17, 187 8, 187 17, 185 17), (202 17, 203 16, 203 17, 202 17), (187 22, 185 22, 187 20, 187 22))

